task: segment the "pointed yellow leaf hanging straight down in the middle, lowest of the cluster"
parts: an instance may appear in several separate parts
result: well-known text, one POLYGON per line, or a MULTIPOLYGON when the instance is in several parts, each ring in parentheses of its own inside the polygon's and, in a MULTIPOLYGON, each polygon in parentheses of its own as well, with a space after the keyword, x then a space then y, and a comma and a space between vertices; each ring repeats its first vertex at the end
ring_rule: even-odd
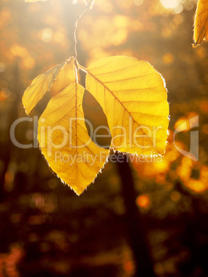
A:
POLYGON ((76 194, 94 181, 109 154, 87 132, 84 92, 74 82, 54 96, 39 119, 38 131, 39 145, 50 167, 76 194))

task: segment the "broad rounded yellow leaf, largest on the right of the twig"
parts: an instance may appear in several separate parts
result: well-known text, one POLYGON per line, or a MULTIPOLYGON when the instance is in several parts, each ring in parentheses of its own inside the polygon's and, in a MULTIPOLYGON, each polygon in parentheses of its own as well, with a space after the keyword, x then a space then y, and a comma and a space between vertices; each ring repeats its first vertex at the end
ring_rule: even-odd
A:
POLYGON ((86 89, 103 107, 114 150, 163 154, 169 104, 163 78, 152 65, 117 56, 102 59, 85 71, 86 89))

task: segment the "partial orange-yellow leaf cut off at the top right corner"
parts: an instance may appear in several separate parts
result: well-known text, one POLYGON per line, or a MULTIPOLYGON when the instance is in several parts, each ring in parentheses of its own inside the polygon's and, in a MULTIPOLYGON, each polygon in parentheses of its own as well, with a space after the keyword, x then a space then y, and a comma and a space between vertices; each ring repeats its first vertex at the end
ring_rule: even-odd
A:
POLYGON ((194 20, 194 45, 196 47, 202 41, 208 39, 208 2, 199 0, 196 8, 196 17, 194 20))

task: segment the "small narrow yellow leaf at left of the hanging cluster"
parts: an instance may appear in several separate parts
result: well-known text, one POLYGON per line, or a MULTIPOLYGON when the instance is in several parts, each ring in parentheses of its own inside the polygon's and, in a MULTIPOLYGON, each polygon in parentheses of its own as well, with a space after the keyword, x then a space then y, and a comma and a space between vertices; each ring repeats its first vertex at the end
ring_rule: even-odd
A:
POLYGON ((32 81, 31 85, 26 88, 22 98, 26 114, 29 115, 37 103, 43 98, 44 94, 50 90, 53 82, 59 72, 63 69, 64 65, 65 62, 56 65, 54 68, 43 74, 40 74, 32 81))

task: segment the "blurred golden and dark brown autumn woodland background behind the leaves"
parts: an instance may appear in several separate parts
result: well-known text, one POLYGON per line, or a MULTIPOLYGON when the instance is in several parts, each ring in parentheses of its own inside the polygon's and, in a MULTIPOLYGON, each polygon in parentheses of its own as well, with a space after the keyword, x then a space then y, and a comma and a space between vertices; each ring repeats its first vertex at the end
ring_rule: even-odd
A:
MULTIPOLYGON (((208 276, 208 44, 191 47, 196 2, 96 0, 79 21, 81 65, 126 55, 149 61, 167 84, 170 123, 163 162, 107 163, 76 196, 38 148, 21 149, 10 126, 26 116, 21 97, 37 75, 74 55, 83 1, 0 2, 0 276, 208 276), (199 158, 189 119, 199 116, 199 158)), ((67 65, 34 111, 72 82, 67 65)), ((81 80, 82 81, 82 80, 81 80)), ((17 125, 34 143, 33 122, 17 125)))

